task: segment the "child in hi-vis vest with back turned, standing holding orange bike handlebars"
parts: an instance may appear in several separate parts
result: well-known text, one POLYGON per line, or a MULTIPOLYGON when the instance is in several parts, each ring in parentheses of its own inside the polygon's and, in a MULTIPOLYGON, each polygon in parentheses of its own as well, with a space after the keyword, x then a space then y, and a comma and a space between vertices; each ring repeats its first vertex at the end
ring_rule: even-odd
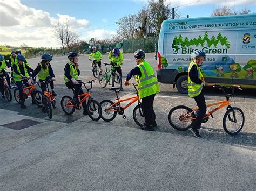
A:
POLYGON ((154 131, 157 126, 156 115, 153 110, 154 97, 160 92, 160 87, 157 78, 154 75, 154 70, 149 62, 145 61, 145 52, 138 49, 134 52, 134 58, 137 66, 127 74, 124 82, 128 86, 132 76, 136 77, 138 84, 139 98, 142 99, 142 110, 145 116, 145 124, 140 129, 146 131, 154 131))

